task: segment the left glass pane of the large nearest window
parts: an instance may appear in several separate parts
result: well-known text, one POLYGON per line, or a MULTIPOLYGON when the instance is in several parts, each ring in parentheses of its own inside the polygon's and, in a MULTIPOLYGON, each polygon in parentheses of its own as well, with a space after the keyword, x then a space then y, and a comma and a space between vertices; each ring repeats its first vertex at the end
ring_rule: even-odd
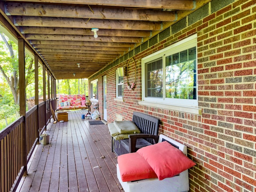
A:
POLYGON ((163 64, 162 58, 146 64, 146 96, 163 97, 163 64))

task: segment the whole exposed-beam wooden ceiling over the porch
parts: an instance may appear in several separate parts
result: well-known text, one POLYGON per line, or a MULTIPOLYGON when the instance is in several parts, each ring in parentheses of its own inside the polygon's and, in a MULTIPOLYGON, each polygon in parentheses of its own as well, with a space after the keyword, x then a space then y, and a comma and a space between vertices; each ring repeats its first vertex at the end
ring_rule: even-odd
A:
POLYGON ((209 1, 2 0, 0 13, 56 79, 71 79, 90 77, 209 1))

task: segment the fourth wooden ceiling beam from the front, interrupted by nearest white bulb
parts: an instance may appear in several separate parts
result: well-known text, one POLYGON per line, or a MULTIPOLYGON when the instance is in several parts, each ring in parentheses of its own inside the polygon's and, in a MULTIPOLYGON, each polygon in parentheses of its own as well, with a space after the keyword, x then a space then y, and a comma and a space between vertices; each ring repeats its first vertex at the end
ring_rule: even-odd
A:
MULTIPOLYGON (((28 27, 22 26, 21 32, 24 34, 70 34, 70 35, 93 35, 91 29, 85 28, 58 28, 58 27, 28 27)), ((116 36, 116 37, 150 37, 150 31, 142 30, 112 30, 100 29, 98 36, 116 36)))

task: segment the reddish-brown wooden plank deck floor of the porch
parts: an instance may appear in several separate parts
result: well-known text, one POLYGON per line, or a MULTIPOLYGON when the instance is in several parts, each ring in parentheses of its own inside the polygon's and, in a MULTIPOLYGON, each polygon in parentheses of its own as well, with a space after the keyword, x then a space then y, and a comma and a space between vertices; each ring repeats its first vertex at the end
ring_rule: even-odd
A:
POLYGON ((84 110, 48 127, 50 144, 38 145, 20 192, 120 192, 117 158, 107 125, 89 125, 84 110))

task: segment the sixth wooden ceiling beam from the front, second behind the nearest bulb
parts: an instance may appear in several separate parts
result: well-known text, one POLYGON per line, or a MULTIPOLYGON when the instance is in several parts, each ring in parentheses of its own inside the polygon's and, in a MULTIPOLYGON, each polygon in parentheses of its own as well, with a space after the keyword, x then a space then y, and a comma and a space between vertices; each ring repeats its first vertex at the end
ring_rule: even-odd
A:
POLYGON ((84 42, 84 41, 56 41, 56 40, 30 40, 31 44, 41 45, 75 45, 75 46, 95 46, 95 47, 135 47, 135 43, 117 43, 117 42, 84 42))

